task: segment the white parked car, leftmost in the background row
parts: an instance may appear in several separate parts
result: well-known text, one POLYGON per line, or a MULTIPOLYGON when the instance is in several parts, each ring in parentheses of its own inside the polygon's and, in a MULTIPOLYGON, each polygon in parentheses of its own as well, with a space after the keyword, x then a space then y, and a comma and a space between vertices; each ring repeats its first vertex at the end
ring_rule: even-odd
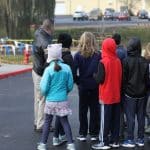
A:
POLYGON ((84 11, 75 11, 73 20, 88 20, 88 15, 84 11))

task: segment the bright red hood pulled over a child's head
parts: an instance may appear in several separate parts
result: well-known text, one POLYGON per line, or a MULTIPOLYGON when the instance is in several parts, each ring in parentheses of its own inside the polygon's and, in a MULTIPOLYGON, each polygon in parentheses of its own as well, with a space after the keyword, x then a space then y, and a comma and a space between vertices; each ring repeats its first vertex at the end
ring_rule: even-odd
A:
POLYGON ((102 58, 116 57, 116 43, 114 39, 107 38, 102 42, 102 58))

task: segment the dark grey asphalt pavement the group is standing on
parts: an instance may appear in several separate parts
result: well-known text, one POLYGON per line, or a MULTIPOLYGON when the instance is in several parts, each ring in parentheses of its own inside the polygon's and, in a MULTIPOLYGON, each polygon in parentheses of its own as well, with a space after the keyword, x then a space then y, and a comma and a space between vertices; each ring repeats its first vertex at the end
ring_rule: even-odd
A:
MULTIPOLYGON (((78 95, 77 88, 69 94, 73 114, 69 121, 77 150, 90 150, 91 141, 79 142, 78 135, 78 95)), ((36 150, 40 134, 33 131, 33 83, 31 73, 0 80, 0 150, 36 150)), ((65 150, 66 145, 52 146, 52 133, 49 136, 49 150, 65 150)), ((140 149, 140 148, 135 148, 140 149)), ((143 150, 150 149, 146 142, 143 150)), ((123 148, 119 148, 123 150, 123 148)))

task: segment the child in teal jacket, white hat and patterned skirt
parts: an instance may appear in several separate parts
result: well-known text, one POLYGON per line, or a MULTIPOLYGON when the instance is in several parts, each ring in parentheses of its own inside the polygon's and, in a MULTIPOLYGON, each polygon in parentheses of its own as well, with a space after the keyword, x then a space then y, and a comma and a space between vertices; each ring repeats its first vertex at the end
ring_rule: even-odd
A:
MULTIPOLYGON (((72 131, 68 122, 68 115, 71 114, 67 95, 73 89, 72 71, 67 64, 64 64, 62 56, 62 45, 51 44, 48 46, 49 66, 45 69, 40 82, 41 93, 46 97, 45 122, 41 142, 38 150, 46 150, 46 143, 49 136, 49 129, 55 115, 60 119, 64 128, 68 144, 68 150, 75 150, 72 139, 72 131)), ((59 135, 58 135, 59 136, 59 135)))

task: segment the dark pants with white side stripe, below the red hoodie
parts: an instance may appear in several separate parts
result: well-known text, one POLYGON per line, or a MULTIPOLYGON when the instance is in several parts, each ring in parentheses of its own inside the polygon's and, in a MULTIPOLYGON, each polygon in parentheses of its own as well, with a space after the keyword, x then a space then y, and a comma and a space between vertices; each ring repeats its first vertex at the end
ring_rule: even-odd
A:
POLYGON ((120 103, 101 105, 100 141, 109 145, 109 142, 119 142, 120 130, 120 103), (109 134, 111 135, 109 139, 109 134))

